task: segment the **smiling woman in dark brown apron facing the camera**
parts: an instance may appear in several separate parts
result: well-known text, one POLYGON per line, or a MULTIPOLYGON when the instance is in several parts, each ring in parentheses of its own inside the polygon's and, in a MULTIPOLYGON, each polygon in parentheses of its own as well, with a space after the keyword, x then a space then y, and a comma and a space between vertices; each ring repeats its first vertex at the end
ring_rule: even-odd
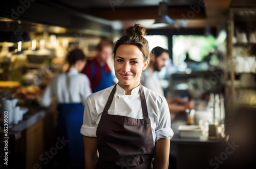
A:
POLYGON ((144 27, 125 30, 114 46, 114 69, 118 83, 90 95, 84 109, 87 169, 168 168, 170 114, 164 97, 140 84, 150 62, 144 27))

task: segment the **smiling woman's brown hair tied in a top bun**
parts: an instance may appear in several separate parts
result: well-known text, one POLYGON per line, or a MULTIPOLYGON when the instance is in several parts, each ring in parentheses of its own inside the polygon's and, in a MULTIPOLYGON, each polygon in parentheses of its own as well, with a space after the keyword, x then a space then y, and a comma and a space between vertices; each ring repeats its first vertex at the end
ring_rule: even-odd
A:
POLYGON ((128 27, 124 31, 124 35, 118 39, 114 45, 114 60, 116 58, 116 50, 120 45, 135 45, 143 53, 144 62, 147 60, 150 61, 151 53, 148 48, 148 42, 143 35, 146 35, 146 29, 140 24, 135 24, 134 26, 128 27))

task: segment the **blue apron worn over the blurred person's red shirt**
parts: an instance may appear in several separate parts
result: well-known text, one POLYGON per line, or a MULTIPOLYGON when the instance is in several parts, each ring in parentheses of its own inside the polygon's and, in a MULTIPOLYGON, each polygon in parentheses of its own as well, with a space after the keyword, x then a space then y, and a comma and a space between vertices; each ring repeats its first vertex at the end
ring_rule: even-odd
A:
MULTIPOLYGON (((95 67, 93 63, 90 63, 92 68, 92 79, 95 78, 95 67)), ((113 75, 111 72, 105 72, 104 68, 100 65, 101 80, 99 85, 92 91, 93 93, 101 91, 103 89, 113 86, 113 75)))

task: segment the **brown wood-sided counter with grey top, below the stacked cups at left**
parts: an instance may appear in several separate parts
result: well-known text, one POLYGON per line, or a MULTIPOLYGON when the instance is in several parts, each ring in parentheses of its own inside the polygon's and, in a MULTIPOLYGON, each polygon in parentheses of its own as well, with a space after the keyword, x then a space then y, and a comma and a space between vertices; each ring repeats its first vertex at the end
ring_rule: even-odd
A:
MULTIPOLYGON (((49 115, 47 108, 33 105, 29 107, 22 121, 9 126, 8 162, 11 168, 33 168, 34 164, 42 165, 39 156, 45 150, 45 124, 49 115)), ((3 129, 0 132, 4 134, 3 129)))

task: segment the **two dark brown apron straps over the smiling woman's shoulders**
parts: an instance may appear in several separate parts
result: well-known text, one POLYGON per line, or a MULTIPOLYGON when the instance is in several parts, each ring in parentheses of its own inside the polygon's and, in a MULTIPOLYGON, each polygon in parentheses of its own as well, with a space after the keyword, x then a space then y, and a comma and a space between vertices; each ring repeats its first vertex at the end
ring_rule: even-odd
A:
MULTIPOLYGON (((117 84, 114 86, 113 90, 110 93, 109 99, 106 102, 106 105, 104 107, 103 113, 108 113, 108 110, 110 108, 110 105, 113 101, 114 95, 116 93, 116 86, 117 84)), ((140 83, 140 101, 141 101, 141 107, 142 107, 142 113, 143 113, 143 118, 144 119, 148 119, 148 111, 147 111, 147 107, 146 107, 146 99, 145 99, 145 95, 144 95, 144 91, 143 91, 143 87, 140 83)))

